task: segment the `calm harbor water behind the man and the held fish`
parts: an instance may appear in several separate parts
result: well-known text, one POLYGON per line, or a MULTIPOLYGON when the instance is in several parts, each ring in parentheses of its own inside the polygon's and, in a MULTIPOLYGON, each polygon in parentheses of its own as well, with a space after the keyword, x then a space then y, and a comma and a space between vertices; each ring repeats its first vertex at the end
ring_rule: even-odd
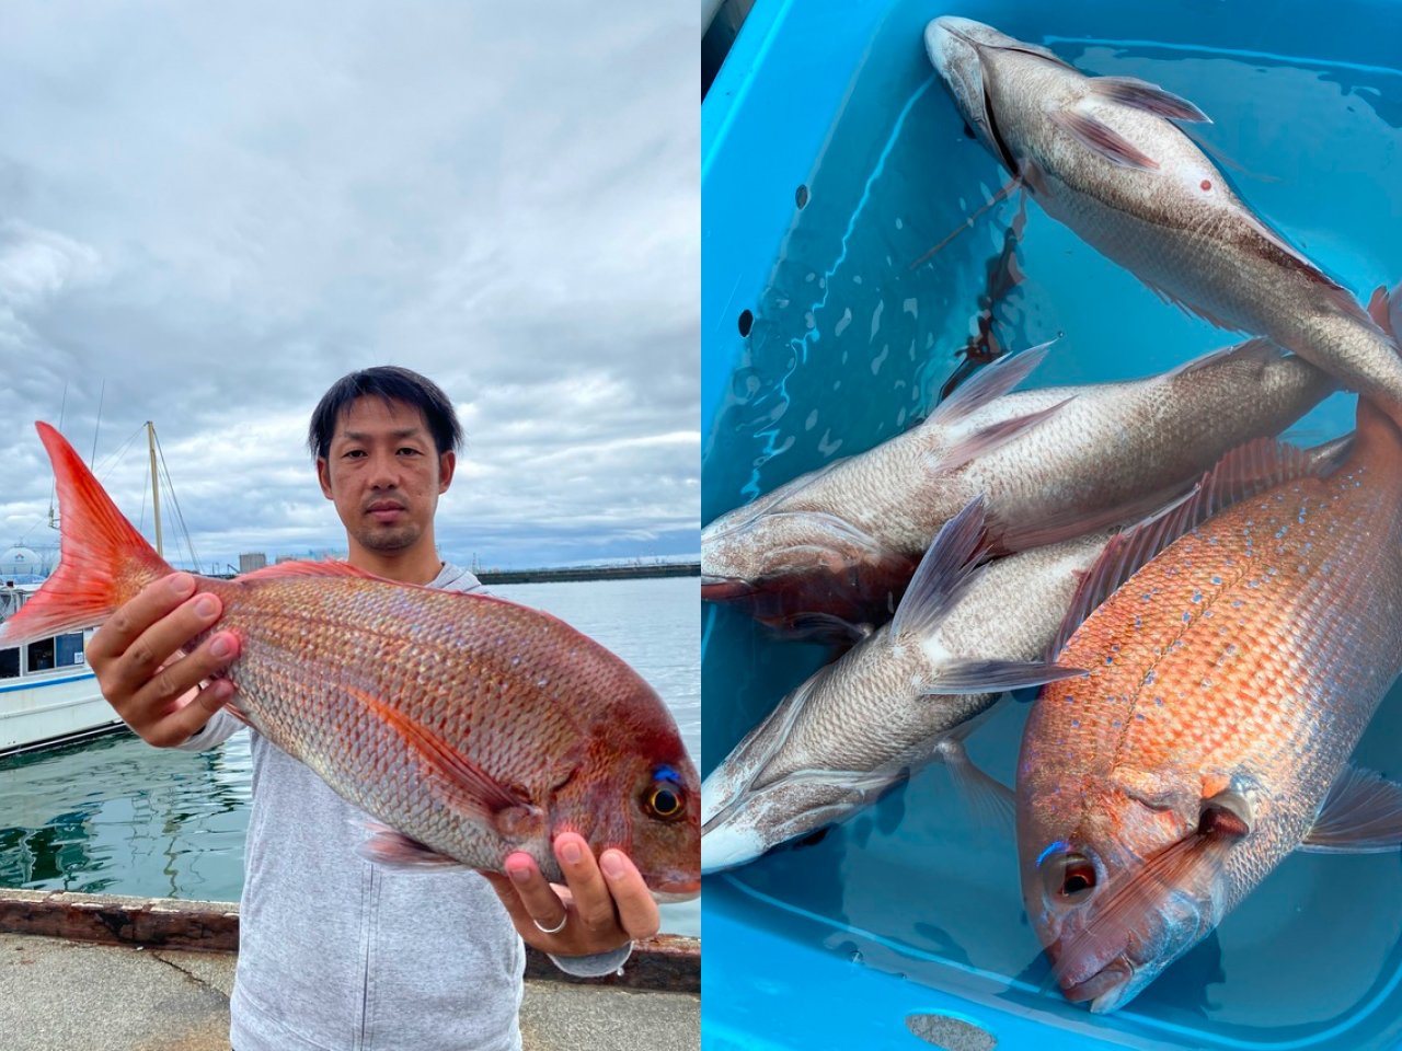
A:
MULTIPOLYGON (((632 664, 701 744, 695 577, 498 584, 632 664)), ((0 886, 237 901, 243 888, 248 734, 178 753, 115 734, 0 762, 0 886)), ((667 933, 700 935, 695 901, 665 905, 667 933)))

